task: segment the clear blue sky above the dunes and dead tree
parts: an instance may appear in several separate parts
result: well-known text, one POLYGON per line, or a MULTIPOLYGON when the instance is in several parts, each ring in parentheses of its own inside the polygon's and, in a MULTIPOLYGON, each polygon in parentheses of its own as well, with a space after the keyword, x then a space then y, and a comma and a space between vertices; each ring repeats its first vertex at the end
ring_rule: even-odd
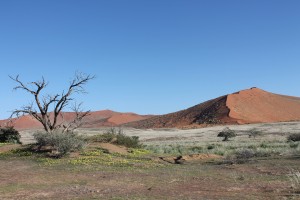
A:
POLYGON ((8 75, 84 108, 164 114, 253 86, 300 96, 299 0, 0 1, 0 119, 31 102, 8 75))

